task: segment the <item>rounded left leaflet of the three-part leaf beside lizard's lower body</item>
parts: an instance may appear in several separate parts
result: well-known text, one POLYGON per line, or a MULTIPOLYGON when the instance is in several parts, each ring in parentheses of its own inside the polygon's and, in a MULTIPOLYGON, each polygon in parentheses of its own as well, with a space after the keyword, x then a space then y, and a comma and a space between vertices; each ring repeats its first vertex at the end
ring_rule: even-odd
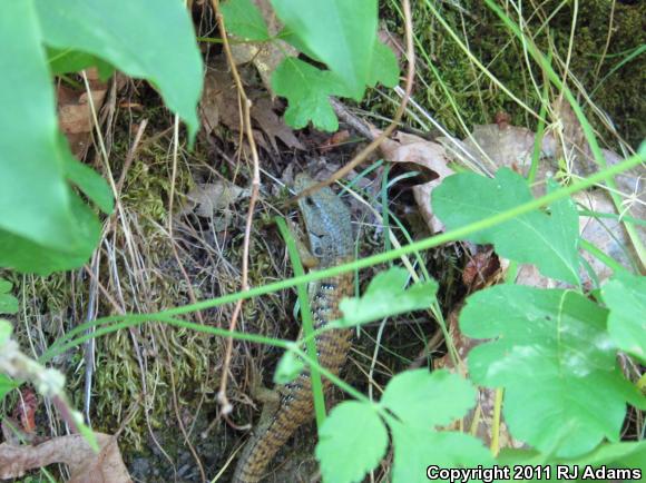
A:
POLYGON ((354 401, 339 404, 319 432, 316 459, 323 481, 361 482, 388 447, 388 433, 372 406, 354 401))

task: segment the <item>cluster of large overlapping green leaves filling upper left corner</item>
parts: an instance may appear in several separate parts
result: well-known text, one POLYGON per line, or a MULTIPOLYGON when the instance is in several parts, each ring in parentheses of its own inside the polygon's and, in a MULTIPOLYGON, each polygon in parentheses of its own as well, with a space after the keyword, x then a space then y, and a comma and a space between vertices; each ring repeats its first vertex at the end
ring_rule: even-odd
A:
POLYGON ((154 11, 126 0, 3 2, 0 41, 0 103, 11 114, 0 118, 0 266, 38 274, 80 266, 100 225, 71 188, 107 214, 111 190, 60 135, 50 73, 98 65, 107 75, 114 65, 150 79, 195 134, 202 61, 190 21, 173 0, 154 11))

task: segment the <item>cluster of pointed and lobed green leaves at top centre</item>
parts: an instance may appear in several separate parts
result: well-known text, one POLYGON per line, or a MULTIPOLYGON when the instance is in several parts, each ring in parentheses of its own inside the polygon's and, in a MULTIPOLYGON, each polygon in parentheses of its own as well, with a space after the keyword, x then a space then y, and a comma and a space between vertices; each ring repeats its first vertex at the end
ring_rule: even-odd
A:
MULTIPOLYGON (((272 89, 288 100, 285 121, 290 126, 303 128, 311 121, 319 129, 335 131, 339 120, 330 96, 361 100, 366 87, 397 85, 397 58, 376 38, 375 0, 324 0, 310 2, 307 8, 294 0, 273 0, 272 4, 285 24, 280 38, 330 69, 286 57, 274 70, 272 89)), ((234 36, 267 40, 267 27, 249 0, 229 0, 222 13, 234 36)))

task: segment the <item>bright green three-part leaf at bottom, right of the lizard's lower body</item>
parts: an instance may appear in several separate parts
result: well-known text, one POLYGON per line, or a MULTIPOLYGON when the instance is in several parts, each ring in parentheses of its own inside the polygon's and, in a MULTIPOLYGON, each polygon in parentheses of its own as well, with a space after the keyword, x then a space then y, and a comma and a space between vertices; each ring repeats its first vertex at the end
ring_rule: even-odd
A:
POLYGON ((321 427, 316 457, 324 481, 359 482, 383 457, 385 425, 394 446, 393 483, 424 482, 429 462, 460 467, 491 462, 472 436, 434 431, 464 415, 476 401, 473 387, 446 371, 409 371, 394 376, 380 404, 345 402, 321 427), (384 425, 385 424, 385 425, 384 425), (352 460, 348 459, 351 452, 352 460))

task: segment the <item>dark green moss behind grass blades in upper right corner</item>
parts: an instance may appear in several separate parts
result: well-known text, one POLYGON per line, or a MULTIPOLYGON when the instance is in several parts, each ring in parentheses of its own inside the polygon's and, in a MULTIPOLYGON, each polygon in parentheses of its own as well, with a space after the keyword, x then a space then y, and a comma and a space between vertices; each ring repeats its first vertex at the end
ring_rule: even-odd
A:
MULTIPOLYGON (((561 1, 550 0, 542 4, 542 10, 535 14, 531 6, 525 6, 523 17, 528 31, 542 52, 550 48, 561 59, 566 59, 570 43, 570 28, 574 17, 574 3, 567 2, 554 18, 548 28, 541 28, 546 17, 561 1), (550 47, 551 45, 551 47, 550 47)), ((570 70, 579 79, 587 92, 591 92, 599 81, 608 75, 627 53, 646 42, 645 19, 646 3, 628 6, 616 2, 611 39, 606 57, 598 69, 608 36, 608 22, 613 2, 591 0, 579 3, 577 28, 571 46, 570 70), (621 53, 624 52, 624 53, 621 53)), ((468 0, 460 7, 450 2, 433 2, 442 19, 462 41, 468 40, 470 52, 489 68, 515 96, 521 99, 536 112, 540 109, 540 99, 532 86, 530 73, 542 85, 544 76, 538 66, 530 61, 528 67, 522 46, 512 32, 502 26, 499 18, 491 12, 484 2, 468 0)), ((390 1, 384 6, 382 17, 391 32, 403 38, 399 2, 390 1)), ((506 95, 489 78, 483 76, 469 57, 447 33, 427 4, 427 1, 413 2, 414 34, 418 46, 418 79, 414 98, 449 131, 462 136, 460 117, 468 129, 473 124, 493 122, 498 111, 511 117, 511 124, 536 127, 536 119, 521 106, 506 95), (448 93, 440 87, 440 81, 427 67, 428 62, 437 69, 448 88, 448 93), (425 83, 425 85, 424 85, 425 83), (451 106, 450 99, 457 108, 451 106)), ((511 17, 516 20, 517 14, 511 17)), ((557 66, 556 62, 554 63, 557 66)), ((617 131, 634 147, 646 132, 646 105, 643 102, 643 86, 646 73, 644 56, 633 59, 613 72, 596 90, 593 101, 610 116, 617 131)), ((558 70, 558 69, 557 69, 558 70)), ((571 82, 569 83, 571 87, 571 82)), ((551 98, 558 92, 551 92, 551 98)), ((579 97, 580 98, 580 97, 579 97)), ((583 101, 583 100, 581 100, 583 101)), ((366 109, 379 108, 390 116, 394 112, 392 105, 382 106, 370 98, 366 109)), ((601 138, 611 144, 608 134, 589 106, 585 106, 593 126, 601 138)), ((409 119, 414 126, 414 121, 409 119)))

